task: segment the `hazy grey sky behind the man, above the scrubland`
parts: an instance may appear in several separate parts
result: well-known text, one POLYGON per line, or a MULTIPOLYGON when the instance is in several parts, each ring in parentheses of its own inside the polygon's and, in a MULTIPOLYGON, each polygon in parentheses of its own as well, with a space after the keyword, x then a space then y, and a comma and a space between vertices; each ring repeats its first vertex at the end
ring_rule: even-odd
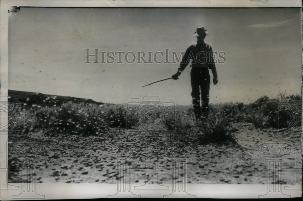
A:
POLYGON ((122 63, 117 56, 114 63, 85 63, 85 48, 160 51, 161 60, 164 48, 185 52, 196 43, 196 28, 205 27, 205 42, 226 53, 216 64, 210 103, 301 93, 300 8, 21 8, 9 15, 9 89, 115 104, 159 96, 190 105, 189 65, 178 80, 142 87, 171 77, 179 64, 126 63, 124 56, 122 63))

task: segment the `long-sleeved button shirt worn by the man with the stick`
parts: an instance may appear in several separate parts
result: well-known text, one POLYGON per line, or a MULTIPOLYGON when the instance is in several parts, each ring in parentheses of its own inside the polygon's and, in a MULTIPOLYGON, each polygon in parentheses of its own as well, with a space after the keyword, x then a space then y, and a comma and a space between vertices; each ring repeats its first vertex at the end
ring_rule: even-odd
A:
POLYGON ((192 44, 187 47, 185 54, 181 60, 179 72, 182 72, 188 63, 191 62, 191 67, 208 67, 214 78, 217 78, 215 61, 210 45, 203 42, 201 45, 192 44))

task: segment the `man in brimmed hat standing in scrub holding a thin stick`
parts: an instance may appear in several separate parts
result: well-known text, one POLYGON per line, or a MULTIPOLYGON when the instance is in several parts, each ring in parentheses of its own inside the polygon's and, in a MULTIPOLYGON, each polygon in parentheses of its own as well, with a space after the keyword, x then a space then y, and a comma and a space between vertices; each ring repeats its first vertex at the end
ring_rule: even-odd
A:
POLYGON ((204 27, 197 28, 196 32, 194 33, 194 36, 197 37, 197 44, 192 44, 188 46, 181 60, 178 72, 171 76, 172 79, 178 79, 178 76, 191 61, 191 96, 196 119, 201 118, 201 113, 203 118, 208 118, 210 85, 210 75, 208 72, 208 68, 211 69, 211 72, 213 74, 214 85, 218 83, 218 76, 211 46, 204 42, 206 35, 207 30, 205 30, 204 27), (202 100, 201 107, 200 90, 202 100))

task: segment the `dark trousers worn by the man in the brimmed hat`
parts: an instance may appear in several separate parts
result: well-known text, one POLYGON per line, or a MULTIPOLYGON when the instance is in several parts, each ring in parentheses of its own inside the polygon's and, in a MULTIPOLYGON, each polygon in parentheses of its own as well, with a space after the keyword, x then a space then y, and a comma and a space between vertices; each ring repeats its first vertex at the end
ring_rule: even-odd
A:
POLYGON ((208 68, 194 67, 190 72, 191 77, 191 97, 196 118, 208 117, 208 101, 209 101, 209 84, 210 76, 208 68), (200 91, 201 91, 201 107, 200 107, 200 91))

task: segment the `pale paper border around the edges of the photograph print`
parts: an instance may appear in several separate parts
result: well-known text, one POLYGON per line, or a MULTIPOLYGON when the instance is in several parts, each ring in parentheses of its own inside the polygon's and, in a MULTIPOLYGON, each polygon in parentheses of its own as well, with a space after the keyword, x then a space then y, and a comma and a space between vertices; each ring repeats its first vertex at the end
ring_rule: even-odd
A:
MULTIPOLYGON (((301 1, 296 0, 250 0, 250 1, 235 1, 235 0, 213 0, 213 1, 165 1, 165 0, 125 0, 125 1, 36 1, 36 0, 2 0, 1 1, 1 21, 0 21, 0 44, 1 44, 1 102, 7 102, 8 96, 8 10, 11 7, 140 7, 140 8, 270 8, 270 7, 298 7, 302 8, 301 1)), ((302 22, 302 10, 301 10, 302 22)), ((302 24, 301 24, 302 30, 302 24)), ((301 32, 302 33, 302 32, 301 32)), ((302 34, 301 34, 302 45, 302 34)), ((301 75, 302 76, 302 75, 301 75)), ((1 124, 7 125, 7 113, 1 112, 1 124)), ((2 200, 18 199, 22 183, 7 183, 7 147, 8 147, 8 132, 1 131, 0 135, 0 198, 2 200), (5 177, 5 179, 4 179, 5 177)), ((268 193, 270 184, 187 184, 186 192, 189 195, 195 195, 195 198, 262 198, 260 195, 268 193)), ((108 195, 117 193, 117 184, 88 184, 88 183, 36 183, 35 192, 40 195, 40 199, 79 199, 79 198, 108 198, 108 195), (67 193, 68 192, 68 193, 67 193), (41 197, 43 196, 43 197, 41 197)), ((148 184, 146 185, 148 187, 148 184)), ((281 186, 280 186, 281 187, 281 186)), ((141 197, 157 197, 163 198, 163 194, 157 194, 157 190, 153 191, 136 191, 132 190, 133 194, 138 192, 141 197)), ((169 194, 171 190, 161 191, 164 195, 169 194), (167 193, 168 192, 168 193, 167 193)), ((285 189, 282 185, 282 191, 276 191, 272 197, 293 198, 301 197, 301 186, 294 186, 293 189, 285 189)), ((135 196, 135 195, 134 195, 135 196)), ((266 198, 266 197, 265 197, 266 198)), ((30 199, 30 198, 28 198, 30 199)))

